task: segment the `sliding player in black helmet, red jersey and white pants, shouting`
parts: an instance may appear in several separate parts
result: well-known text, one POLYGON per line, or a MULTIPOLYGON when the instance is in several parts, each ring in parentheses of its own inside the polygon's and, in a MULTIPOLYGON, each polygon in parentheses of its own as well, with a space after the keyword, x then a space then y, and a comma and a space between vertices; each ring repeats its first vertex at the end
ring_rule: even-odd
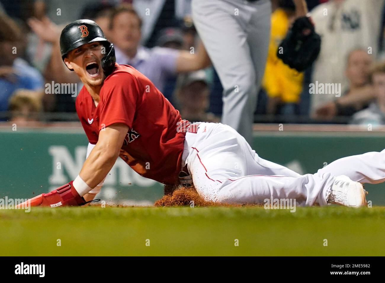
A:
POLYGON ((89 140, 87 158, 74 181, 36 196, 32 206, 92 201, 118 156, 140 175, 168 185, 184 168, 200 196, 221 203, 263 203, 273 196, 299 205, 358 207, 366 204, 361 183, 385 180, 385 151, 299 175, 260 158, 228 125, 189 125, 149 79, 115 63, 113 45, 93 21, 67 25, 60 48, 65 65, 84 83, 76 110, 89 140))

